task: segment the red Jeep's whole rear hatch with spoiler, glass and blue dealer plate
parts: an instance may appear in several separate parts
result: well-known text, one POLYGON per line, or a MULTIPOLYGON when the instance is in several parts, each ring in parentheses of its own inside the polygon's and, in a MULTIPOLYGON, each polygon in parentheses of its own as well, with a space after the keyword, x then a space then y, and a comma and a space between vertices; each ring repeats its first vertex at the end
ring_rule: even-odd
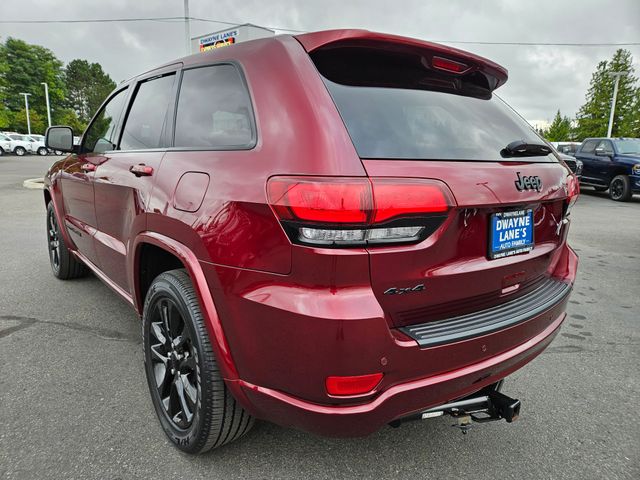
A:
POLYGON ((427 238, 368 247, 373 290, 393 325, 487 308, 548 277, 564 241, 571 173, 493 94, 506 70, 369 32, 298 39, 374 186, 379 177, 434 179, 452 194, 427 238))

